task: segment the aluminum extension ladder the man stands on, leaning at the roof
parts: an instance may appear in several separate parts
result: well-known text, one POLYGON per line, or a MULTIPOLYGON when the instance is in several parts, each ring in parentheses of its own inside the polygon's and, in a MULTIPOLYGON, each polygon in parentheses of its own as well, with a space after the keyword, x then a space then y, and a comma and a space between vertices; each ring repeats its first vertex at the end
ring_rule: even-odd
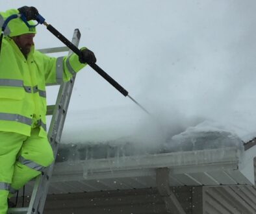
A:
MULTIPOLYGON (((72 43, 77 47, 79 45, 79 40, 81 33, 79 29, 75 29, 73 33, 72 43)), ((72 53, 68 47, 55 47, 51 49, 41 49, 38 50, 42 53, 58 53, 63 51, 69 51, 69 55, 72 53)), ((48 140, 53 148, 53 154, 56 159, 58 152, 58 145, 60 143, 60 138, 62 135, 62 130, 64 127, 64 121, 66 118, 66 113, 68 111, 68 105, 70 103, 70 97, 73 90, 73 85, 75 82, 75 75, 70 79, 70 81, 60 84, 58 91, 58 97, 55 105, 47 106, 47 115, 53 115, 51 118, 51 125, 47 134, 48 140)), ((45 200, 47 196, 47 191, 49 187, 49 180, 53 174, 54 163, 52 163, 47 169, 42 173, 42 175, 36 177, 34 188, 32 190, 31 200, 29 207, 27 208, 10 208, 8 209, 9 214, 16 213, 27 213, 27 214, 42 214, 44 211, 45 200)))

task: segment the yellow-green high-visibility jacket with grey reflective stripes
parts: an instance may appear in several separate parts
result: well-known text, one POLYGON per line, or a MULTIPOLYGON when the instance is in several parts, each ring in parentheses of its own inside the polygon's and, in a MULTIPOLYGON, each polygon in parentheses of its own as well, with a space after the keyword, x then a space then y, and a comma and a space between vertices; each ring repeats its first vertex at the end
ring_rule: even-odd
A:
POLYGON ((45 84, 68 81, 85 66, 76 54, 53 58, 34 50, 27 59, 12 38, 5 36, 0 53, 0 132, 30 136, 31 125, 46 134, 45 84))

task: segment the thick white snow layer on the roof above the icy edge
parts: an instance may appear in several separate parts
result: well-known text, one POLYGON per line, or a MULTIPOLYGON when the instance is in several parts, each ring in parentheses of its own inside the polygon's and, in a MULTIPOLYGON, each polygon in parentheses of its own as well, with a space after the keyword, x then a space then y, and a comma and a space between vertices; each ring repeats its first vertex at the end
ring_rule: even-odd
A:
MULTIPOLYGON (((162 112, 163 113, 163 112, 162 112)), ((241 147, 239 126, 201 117, 147 115, 137 106, 69 112, 62 143, 83 145, 133 145, 150 152, 241 147)))

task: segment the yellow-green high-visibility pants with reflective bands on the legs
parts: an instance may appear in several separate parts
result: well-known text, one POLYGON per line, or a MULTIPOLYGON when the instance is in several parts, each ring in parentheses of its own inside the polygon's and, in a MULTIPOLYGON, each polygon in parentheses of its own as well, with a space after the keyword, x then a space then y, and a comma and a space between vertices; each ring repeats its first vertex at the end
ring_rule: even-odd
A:
POLYGON ((0 214, 7 213, 9 192, 18 190, 53 162, 53 150, 47 138, 14 132, 0 132, 0 214))

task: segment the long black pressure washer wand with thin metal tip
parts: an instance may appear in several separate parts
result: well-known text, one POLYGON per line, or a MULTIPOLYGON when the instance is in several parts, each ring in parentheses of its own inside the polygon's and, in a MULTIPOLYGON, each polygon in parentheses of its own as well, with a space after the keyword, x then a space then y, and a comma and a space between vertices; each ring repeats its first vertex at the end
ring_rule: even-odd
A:
MULTIPOLYGON (((60 32, 58 32, 57 29, 47 24, 45 21, 43 24, 46 26, 47 30, 49 30, 53 35, 55 35, 67 47, 69 47, 73 51, 73 53, 77 54, 78 56, 81 55, 81 51, 75 45, 73 45, 73 43, 71 43, 65 36, 63 36, 60 32)), ((125 90, 122 86, 120 86, 120 84, 118 84, 118 82, 116 82, 116 80, 114 80, 105 71, 103 71, 101 67, 99 67, 97 64, 88 64, 88 65, 90 65, 90 67, 92 67, 94 71, 96 71, 99 75, 101 75, 101 77, 105 78, 105 80, 107 80, 112 86, 114 86, 114 88, 120 91, 120 93, 122 93, 123 96, 129 97, 135 104, 137 104, 142 110, 144 110, 144 112, 150 115, 150 113, 147 112, 147 110, 144 107, 142 107, 142 105, 140 105, 130 95, 128 95, 127 90, 125 90)))

